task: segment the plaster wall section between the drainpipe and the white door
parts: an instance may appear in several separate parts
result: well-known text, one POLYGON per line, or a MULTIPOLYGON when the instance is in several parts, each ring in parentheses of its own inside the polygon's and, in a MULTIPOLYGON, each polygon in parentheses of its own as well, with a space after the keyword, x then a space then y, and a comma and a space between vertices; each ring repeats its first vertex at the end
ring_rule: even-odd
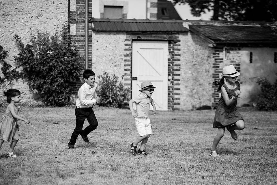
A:
POLYGON ((125 32, 92 32, 92 70, 98 75, 124 75, 125 32))

